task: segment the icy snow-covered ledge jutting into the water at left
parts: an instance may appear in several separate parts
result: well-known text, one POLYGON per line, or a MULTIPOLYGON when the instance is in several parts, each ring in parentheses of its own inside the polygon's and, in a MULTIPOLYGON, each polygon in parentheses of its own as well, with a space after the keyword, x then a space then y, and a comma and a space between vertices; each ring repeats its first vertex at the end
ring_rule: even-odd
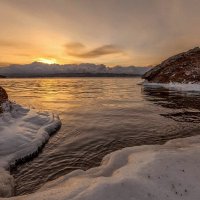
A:
POLYGON ((0 196, 13 194, 9 166, 38 151, 61 125, 58 116, 6 102, 0 114, 0 196))

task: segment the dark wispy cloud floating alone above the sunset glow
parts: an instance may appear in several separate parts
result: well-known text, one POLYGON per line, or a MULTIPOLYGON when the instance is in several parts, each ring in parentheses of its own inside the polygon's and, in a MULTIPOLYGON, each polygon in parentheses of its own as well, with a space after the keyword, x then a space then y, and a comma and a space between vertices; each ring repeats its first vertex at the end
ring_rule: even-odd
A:
POLYGON ((97 58, 110 54, 123 53, 122 49, 112 44, 103 45, 92 50, 87 50, 86 46, 79 42, 66 44, 65 47, 68 55, 79 58, 97 58))

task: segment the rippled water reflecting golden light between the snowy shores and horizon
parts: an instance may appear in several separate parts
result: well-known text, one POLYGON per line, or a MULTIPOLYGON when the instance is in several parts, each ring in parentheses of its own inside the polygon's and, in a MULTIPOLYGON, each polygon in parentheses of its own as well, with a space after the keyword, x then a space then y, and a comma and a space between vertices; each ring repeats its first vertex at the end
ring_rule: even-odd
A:
POLYGON ((123 147, 199 134, 200 96, 143 88, 139 78, 5 79, 19 104, 58 113, 62 128, 38 157, 12 171, 16 195, 123 147))

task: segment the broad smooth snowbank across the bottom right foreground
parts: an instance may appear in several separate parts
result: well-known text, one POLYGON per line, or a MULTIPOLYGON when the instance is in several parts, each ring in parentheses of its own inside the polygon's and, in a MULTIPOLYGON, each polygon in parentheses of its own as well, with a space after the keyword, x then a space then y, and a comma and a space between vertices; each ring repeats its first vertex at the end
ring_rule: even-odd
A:
POLYGON ((129 147, 12 200, 198 200, 200 136, 129 147))

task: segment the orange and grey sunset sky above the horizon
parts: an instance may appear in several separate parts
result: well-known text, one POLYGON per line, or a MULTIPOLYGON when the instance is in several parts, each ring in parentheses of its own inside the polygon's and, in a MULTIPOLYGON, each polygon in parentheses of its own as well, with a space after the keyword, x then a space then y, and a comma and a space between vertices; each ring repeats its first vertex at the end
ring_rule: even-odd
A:
POLYGON ((200 44, 200 0, 0 0, 0 65, 158 64, 200 44))

